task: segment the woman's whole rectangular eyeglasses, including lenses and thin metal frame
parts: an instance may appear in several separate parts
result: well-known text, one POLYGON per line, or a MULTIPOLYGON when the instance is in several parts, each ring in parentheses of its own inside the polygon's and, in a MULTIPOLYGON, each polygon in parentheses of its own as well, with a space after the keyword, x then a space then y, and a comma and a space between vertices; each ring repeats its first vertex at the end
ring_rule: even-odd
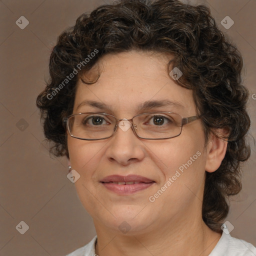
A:
POLYGON ((134 134, 144 139, 167 139, 180 135, 183 125, 199 119, 198 116, 181 117, 173 112, 150 112, 135 115, 131 119, 116 119, 99 112, 72 114, 63 118, 70 136, 84 140, 106 139, 129 127, 134 134))

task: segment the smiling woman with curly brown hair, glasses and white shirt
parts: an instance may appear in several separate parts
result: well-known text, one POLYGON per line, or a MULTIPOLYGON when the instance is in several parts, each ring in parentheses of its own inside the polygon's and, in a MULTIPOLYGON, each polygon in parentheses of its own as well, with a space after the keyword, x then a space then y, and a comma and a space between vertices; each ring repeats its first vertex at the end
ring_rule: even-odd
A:
POLYGON ((208 8, 100 6, 61 33, 49 68, 44 133, 97 233, 70 256, 256 255, 223 223, 250 154, 248 91, 208 8))

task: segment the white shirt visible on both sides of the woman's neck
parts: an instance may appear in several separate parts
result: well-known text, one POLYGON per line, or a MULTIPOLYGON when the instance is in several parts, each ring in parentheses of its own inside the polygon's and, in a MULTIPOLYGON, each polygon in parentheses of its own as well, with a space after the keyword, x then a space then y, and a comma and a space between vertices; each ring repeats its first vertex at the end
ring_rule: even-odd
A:
MULTIPOLYGON (((66 256, 96 256, 96 239, 97 236, 94 236, 89 243, 66 256)), ((256 247, 222 232, 219 241, 208 256, 256 256, 256 247)))

